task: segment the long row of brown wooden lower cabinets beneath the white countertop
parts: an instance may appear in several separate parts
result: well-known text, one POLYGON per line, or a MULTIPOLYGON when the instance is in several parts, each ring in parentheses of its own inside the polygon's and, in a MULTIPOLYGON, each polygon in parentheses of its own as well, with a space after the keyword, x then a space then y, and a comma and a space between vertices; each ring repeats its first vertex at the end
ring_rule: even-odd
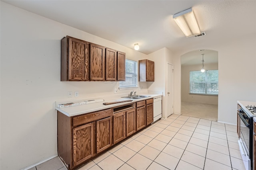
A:
POLYGON ((58 111, 58 156, 68 170, 153 122, 153 100, 68 117, 58 111))

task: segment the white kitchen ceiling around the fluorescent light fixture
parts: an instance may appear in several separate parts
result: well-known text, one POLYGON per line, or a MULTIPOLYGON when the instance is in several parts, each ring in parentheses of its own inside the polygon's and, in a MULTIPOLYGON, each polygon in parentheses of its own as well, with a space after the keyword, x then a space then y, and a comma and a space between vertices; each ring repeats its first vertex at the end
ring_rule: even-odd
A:
POLYGON ((201 49, 256 33, 255 0, 2 1, 131 49, 138 43, 145 54, 163 47, 201 49), (204 36, 186 38, 172 19, 191 7, 204 36))

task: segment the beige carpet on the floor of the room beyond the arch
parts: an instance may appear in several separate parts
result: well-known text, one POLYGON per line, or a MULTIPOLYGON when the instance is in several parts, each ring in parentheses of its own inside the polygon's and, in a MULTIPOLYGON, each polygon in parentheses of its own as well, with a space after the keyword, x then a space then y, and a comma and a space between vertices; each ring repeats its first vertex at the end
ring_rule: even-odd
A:
POLYGON ((181 102, 181 115, 217 121, 218 105, 181 102))

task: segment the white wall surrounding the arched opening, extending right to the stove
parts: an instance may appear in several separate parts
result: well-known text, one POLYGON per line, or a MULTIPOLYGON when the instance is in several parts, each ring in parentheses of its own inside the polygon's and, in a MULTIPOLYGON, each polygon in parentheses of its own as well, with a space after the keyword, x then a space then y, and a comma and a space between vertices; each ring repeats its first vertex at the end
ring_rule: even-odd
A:
MULTIPOLYGON (((207 35, 206 35, 207 36, 207 35)), ((256 101, 256 34, 236 37, 229 43, 204 44, 201 49, 218 51, 219 95, 218 121, 236 124, 236 101, 256 101)), ((174 113, 180 113, 181 65, 180 56, 194 51, 174 54, 174 113)))

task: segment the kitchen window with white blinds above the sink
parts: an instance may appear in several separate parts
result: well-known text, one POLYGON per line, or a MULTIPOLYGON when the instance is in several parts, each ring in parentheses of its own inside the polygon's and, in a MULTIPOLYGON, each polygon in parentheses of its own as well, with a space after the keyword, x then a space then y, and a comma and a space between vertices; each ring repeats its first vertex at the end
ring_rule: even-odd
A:
POLYGON ((137 88, 138 87, 138 62, 125 60, 125 81, 119 82, 119 88, 137 88))

